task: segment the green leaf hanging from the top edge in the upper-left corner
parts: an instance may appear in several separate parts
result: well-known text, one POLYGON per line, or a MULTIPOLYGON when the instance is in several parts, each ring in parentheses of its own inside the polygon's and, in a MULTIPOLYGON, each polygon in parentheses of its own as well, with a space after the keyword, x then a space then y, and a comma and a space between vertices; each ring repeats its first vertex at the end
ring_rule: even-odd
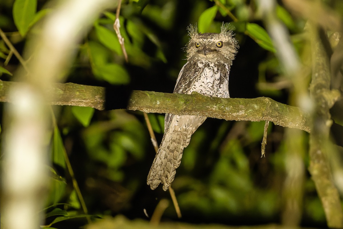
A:
POLYGON ((37 0, 15 0, 13 4, 13 19, 22 37, 30 28, 35 17, 37 0))

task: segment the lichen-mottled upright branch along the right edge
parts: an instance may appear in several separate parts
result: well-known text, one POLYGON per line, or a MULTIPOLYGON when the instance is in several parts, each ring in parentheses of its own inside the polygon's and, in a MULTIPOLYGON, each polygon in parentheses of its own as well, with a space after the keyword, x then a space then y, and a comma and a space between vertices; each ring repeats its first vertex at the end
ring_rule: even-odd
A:
POLYGON ((339 193, 334 186, 328 156, 330 146, 329 131, 332 124, 329 109, 337 99, 335 91, 330 91, 330 64, 328 55, 319 38, 317 26, 308 23, 312 49, 312 81, 310 96, 314 110, 313 128, 310 134, 309 171, 323 204, 329 227, 343 228, 343 212, 339 193))

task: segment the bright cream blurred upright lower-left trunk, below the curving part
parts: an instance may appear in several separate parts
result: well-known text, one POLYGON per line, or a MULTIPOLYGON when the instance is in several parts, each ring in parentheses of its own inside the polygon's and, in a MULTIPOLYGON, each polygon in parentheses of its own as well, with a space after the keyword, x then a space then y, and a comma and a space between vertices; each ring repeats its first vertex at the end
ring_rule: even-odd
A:
POLYGON ((38 228, 43 219, 37 212, 43 208, 48 179, 44 167, 48 119, 41 93, 28 82, 16 85, 9 95, 14 103, 5 107, 3 228, 38 228))

